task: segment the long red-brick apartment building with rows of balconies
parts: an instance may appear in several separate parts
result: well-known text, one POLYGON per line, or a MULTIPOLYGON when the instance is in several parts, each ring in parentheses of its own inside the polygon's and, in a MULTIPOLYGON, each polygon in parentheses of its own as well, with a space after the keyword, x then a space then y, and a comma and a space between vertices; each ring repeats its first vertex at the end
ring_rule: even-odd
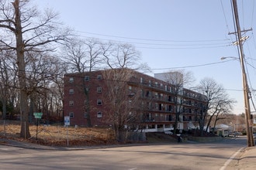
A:
MULTIPOLYGON (((194 128, 198 123, 199 113, 206 104, 206 97, 201 93, 182 88, 178 96, 175 95, 175 85, 163 80, 139 73, 134 70, 116 69, 110 74, 107 70, 92 71, 87 73, 68 73, 64 76, 64 116, 69 116, 71 125, 79 126, 111 126, 111 102, 114 99, 106 97, 115 88, 117 89, 117 75, 123 76, 125 86, 116 90, 118 95, 127 92, 126 96, 134 96, 136 104, 129 112, 140 112, 139 123, 146 132, 170 131, 175 124, 175 97, 178 97, 181 114, 178 117, 178 129, 187 130, 194 128), (121 74, 122 72, 122 74, 121 74), (118 74, 120 73, 120 74, 118 74), (112 83, 109 86, 109 82, 112 83), (138 107, 134 107, 137 105, 138 107)), ((134 97, 133 97, 134 99, 134 97)), ((129 97, 127 104, 132 103, 129 97)), ((124 113, 126 108, 123 108, 124 113)), ((126 110, 127 112, 127 110, 126 110)), ((138 123, 138 122, 137 122, 138 123)))

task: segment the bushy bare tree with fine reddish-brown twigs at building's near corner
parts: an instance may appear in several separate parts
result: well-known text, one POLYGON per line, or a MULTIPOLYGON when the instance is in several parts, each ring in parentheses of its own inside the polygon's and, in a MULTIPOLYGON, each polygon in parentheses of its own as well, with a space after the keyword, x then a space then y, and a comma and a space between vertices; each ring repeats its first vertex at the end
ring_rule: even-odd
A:
POLYGON ((134 128, 137 123, 137 105, 140 97, 139 90, 129 85, 134 71, 130 69, 105 70, 102 73, 108 92, 104 103, 109 108, 109 124, 113 125, 116 140, 119 132, 134 128))

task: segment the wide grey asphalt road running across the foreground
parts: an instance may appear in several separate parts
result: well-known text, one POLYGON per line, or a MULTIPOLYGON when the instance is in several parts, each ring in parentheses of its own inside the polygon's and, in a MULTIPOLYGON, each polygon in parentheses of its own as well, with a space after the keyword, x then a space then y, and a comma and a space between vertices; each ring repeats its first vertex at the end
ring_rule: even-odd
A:
POLYGON ((219 142, 63 150, 0 145, 0 169, 236 169, 245 138, 219 142), (228 166, 227 166, 228 162, 228 166))

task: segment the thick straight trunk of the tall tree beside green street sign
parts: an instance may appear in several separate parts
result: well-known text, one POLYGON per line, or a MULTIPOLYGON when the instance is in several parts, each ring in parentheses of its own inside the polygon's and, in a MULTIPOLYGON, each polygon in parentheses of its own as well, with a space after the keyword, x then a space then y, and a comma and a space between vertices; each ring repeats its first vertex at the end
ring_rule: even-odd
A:
POLYGON ((20 93, 20 118, 21 118, 21 138, 30 138, 29 133, 29 110, 28 110, 28 94, 26 92, 26 71, 24 59, 24 42, 22 39, 22 26, 20 20, 19 0, 12 3, 15 9, 15 22, 16 22, 16 53, 17 64, 19 69, 19 93, 20 93))

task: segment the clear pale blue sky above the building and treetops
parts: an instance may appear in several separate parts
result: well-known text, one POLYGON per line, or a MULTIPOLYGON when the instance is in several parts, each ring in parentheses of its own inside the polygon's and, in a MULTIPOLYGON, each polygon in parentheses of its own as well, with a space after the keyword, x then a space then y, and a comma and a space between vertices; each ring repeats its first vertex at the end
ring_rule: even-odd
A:
MULTIPOLYGON (((61 22, 81 37, 130 43, 140 51, 150 76, 184 70, 195 84, 209 77, 237 101, 234 114, 244 113, 241 68, 228 0, 33 0, 39 9, 52 8, 61 22), (231 34, 229 34, 231 33, 231 34), (221 60, 221 57, 230 57, 221 60)), ((256 83, 256 12, 254 0, 237 0, 249 87, 256 83)), ((254 111, 251 103, 251 111, 254 111)))

